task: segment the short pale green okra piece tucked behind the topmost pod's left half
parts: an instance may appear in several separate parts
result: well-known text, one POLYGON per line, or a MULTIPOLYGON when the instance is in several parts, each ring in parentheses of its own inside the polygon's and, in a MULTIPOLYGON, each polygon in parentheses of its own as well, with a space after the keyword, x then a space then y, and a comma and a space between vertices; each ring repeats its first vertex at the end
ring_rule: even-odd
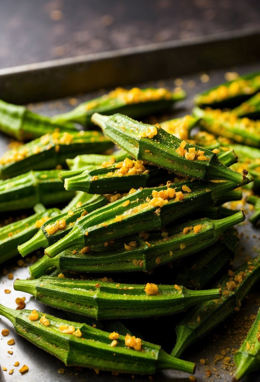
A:
POLYGON ((102 154, 82 154, 75 158, 66 159, 67 166, 70 170, 92 170, 93 168, 101 167, 106 163, 113 165, 116 162, 122 162, 125 158, 130 158, 130 155, 124 150, 118 150, 111 155, 102 154))

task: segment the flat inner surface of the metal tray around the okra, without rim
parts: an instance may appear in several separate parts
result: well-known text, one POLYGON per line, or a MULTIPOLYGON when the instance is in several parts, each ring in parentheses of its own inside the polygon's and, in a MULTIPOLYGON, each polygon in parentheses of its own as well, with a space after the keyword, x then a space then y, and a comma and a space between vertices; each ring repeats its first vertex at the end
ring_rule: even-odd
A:
MULTIPOLYGON (((169 117, 179 117, 186 115, 191 112, 191 108, 193 105, 193 96, 199 91, 207 89, 215 84, 221 83, 224 81, 224 74, 226 71, 238 71, 239 74, 247 73, 249 71, 254 71, 259 69, 259 63, 243 65, 243 66, 233 66, 228 67, 223 70, 216 71, 207 71, 209 74, 210 80, 208 83, 201 82, 201 74, 196 73, 192 75, 182 76, 183 79, 183 88, 188 92, 188 98, 185 101, 182 101, 175 105, 173 112, 168 115, 158 116, 152 118, 151 121, 161 121, 162 119, 167 119, 169 117), (190 82, 194 81, 194 82, 190 82), (194 87, 191 87, 194 85, 194 87)), ((163 78, 163 74, 162 74, 163 78)), ((146 86, 168 86, 169 88, 173 88, 174 79, 161 79, 160 81, 152 81, 149 83, 136 83, 136 86, 146 87, 146 86)), ((45 103, 39 104, 30 104, 29 108, 35 112, 39 112, 46 115, 53 115, 58 112, 64 112, 65 110, 70 110, 75 107, 75 104, 79 104, 82 100, 91 99, 96 97, 97 95, 102 94, 102 91, 91 92, 85 95, 80 96, 72 96, 65 99, 59 99, 54 101, 48 101, 45 103), (73 104, 73 105, 72 105, 73 104)), ((153 122, 154 123, 154 122, 153 122)), ((9 141, 8 138, 1 135, 0 139, 0 155, 3 154, 6 143, 9 141)), ((249 205, 243 206, 245 207, 245 212, 250 214, 249 205)), ((237 206, 236 208, 239 208, 237 206)), ((247 217, 248 217, 247 214, 247 217)), ((21 215, 18 211, 17 215, 21 215)), ((260 244, 260 231, 257 229, 253 229, 250 223, 247 221, 242 223, 238 227, 239 232, 242 234, 241 242, 239 249, 237 251, 234 264, 239 265, 245 261, 247 256, 255 257, 258 254, 258 248, 260 244)), ((39 309, 40 311, 48 312, 50 314, 56 315, 58 317, 68 317, 68 313, 58 311, 55 309, 51 309, 41 303, 38 303, 34 300, 33 297, 26 293, 21 293, 19 291, 13 290, 13 280, 9 280, 7 275, 4 273, 13 272, 14 279, 15 278, 26 278, 29 276, 27 267, 18 267, 16 262, 19 258, 13 259, 13 261, 2 264, 0 266, 0 302, 5 304, 10 308, 16 308, 15 299, 16 297, 26 297, 26 309, 39 309), (3 269, 4 273, 3 273, 3 269), (10 289, 10 294, 5 294, 4 290, 10 289)), ((116 280, 115 274, 104 274, 103 276, 112 276, 114 280, 116 280)), ((151 275, 152 282, 152 275, 151 275)), ((215 329, 212 333, 207 335, 207 337, 200 342, 195 343, 191 346, 184 354, 183 358, 189 361, 194 361, 197 364, 196 371, 196 379, 197 381, 228 381, 231 380, 231 373, 234 371, 234 367, 232 367, 233 363, 233 354, 232 348, 236 349, 240 345, 240 341, 243 338, 243 334, 246 334, 246 328, 250 327, 252 324, 253 316, 250 317, 251 314, 256 314, 258 306, 259 306, 259 298, 260 293, 258 292, 259 285, 254 288, 254 290, 249 294, 249 298, 244 301, 242 304, 241 311, 234 314, 230 317, 224 324, 221 324, 217 329, 215 329), (245 316, 248 318, 245 320, 245 316), (241 333, 241 327, 243 328, 244 333, 241 333), (239 333, 240 332, 240 333, 239 333), (242 335, 241 335, 242 334, 242 335), (227 356, 231 356, 231 361, 229 365, 223 366, 223 360, 213 362, 216 359, 217 354, 221 354, 221 350, 230 349, 227 351, 227 356), (202 366, 199 362, 199 359, 206 359, 205 366, 202 366), (211 370, 212 375, 210 377, 206 376, 205 370, 211 370)), ((124 324, 133 331, 140 331, 142 334, 142 328, 146 327, 144 330, 144 340, 152 338, 158 338, 159 341, 162 341, 163 347, 166 350, 170 350, 174 346, 174 327, 175 322, 177 322, 178 317, 169 316, 169 317, 160 317, 156 318, 148 318, 146 320, 124 320, 124 324), (136 324, 136 322, 138 324, 136 324), (147 327, 149 330, 147 330, 147 327), (166 341, 165 341, 166 338, 166 341)), ((75 317, 73 317, 76 320, 75 317)), ((84 321, 84 317, 77 317, 81 322, 84 321)), ((89 322, 89 320, 88 320, 89 322)), ((95 382, 110 382, 115 379, 119 382, 121 381, 130 381, 134 377, 136 381, 149 381, 148 376, 131 376, 131 375, 122 375, 113 376, 111 372, 102 372, 98 375, 95 374, 93 370, 82 368, 79 370, 75 367, 66 367, 64 364, 46 353, 43 350, 37 349, 34 345, 30 344, 24 338, 16 335, 12 325, 5 318, 0 318, 0 329, 7 328, 10 330, 10 335, 8 337, 0 336, 0 381, 27 381, 27 382, 47 382, 47 381, 95 381, 95 382), (9 346, 7 345, 7 340, 10 338, 14 338, 15 345, 9 346), (13 355, 9 355, 7 350, 13 350, 13 355), (29 366, 29 372, 25 375, 20 375, 18 369, 19 367, 14 367, 13 364, 15 361, 19 361, 20 365, 26 364, 29 366), (13 375, 9 375, 8 371, 2 371, 2 366, 6 367, 8 371, 10 369, 14 369, 13 375), (63 370, 61 370, 63 369, 63 370), (64 371, 63 374, 60 374, 61 371, 64 371)), ((152 376, 154 381, 189 381, 189 375, 177 372, 177 371, 165 371, 152 376)), ((260 381, 260 377, 258 373, 255 373, 254 376, 251 376, 254 381, 260 381)), ((246 379, 245 379, 246 380, 246 379)))

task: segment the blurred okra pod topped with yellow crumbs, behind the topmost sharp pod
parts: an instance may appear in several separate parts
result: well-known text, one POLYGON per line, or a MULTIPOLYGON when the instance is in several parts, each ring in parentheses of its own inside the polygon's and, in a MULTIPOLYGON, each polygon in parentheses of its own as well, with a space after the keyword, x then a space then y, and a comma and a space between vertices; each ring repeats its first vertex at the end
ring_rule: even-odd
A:
POLYGON ((52 121, 59 124, 72 121, 88 126, 91 124, 92 114, 96 112, 108 115, 121 112, 130 117, 139 118, 168 110, 174 102, 185 97, 185 91, 180 88, 170 92, 167 89, 152 87, 147 89, 133 87, 130 90, 118 87, 108 94, 83 102, 70 112, 55 115, 52 121))

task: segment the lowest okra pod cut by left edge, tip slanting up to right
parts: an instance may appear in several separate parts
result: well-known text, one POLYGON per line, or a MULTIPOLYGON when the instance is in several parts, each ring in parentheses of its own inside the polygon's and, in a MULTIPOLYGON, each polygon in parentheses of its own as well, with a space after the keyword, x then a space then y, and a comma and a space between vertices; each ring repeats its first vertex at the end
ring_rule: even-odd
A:
POLYGON ((51 218, 60 214, 58 208, 47 210, 41 204, 35 206, 35 212, 32 216, 0 228, 0 264, 19 254, 17 246, 34 236, 44 217, 51 218))

